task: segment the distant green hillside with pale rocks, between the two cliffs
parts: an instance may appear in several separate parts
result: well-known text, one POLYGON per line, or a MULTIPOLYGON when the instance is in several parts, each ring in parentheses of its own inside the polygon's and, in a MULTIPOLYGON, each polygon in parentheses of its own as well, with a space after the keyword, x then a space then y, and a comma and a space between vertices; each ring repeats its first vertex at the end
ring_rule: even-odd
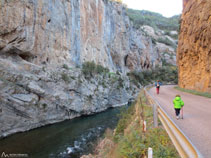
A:
POLYGON ((176 65, 180 15, 166 18, 158 13, 129 8, 126 12, 133 27, 151 38, 163 65, 176 65))

